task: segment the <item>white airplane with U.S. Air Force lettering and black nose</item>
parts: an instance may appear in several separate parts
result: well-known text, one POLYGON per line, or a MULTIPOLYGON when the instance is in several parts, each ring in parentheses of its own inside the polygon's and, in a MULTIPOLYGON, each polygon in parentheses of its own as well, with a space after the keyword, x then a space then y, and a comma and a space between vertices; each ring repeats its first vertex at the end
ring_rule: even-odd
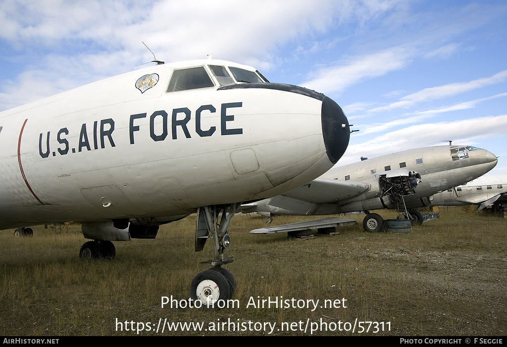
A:
POLYGON ((82 223, 85 259, 111 241, 155 238, 198 213, 196 251, 212 238, 211 270, 191 297, 227 299, 221 266, 230 219, 322 175, 347 148, 350 126, 323 94, 270 83, 221 60, 157 65, 0 113, 0 230, 82 223), (221 217, 220 217, 221 215, 221 217))

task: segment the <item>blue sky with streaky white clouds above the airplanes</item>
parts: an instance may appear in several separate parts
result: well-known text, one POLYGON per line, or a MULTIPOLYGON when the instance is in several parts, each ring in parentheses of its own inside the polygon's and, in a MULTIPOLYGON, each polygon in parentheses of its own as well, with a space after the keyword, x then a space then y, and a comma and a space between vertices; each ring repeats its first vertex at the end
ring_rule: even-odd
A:
POLYGON ((2 0, 0 23, 0 111, 146 67, 144 42, 332 98, 358 130, 339 165, 451 140, 507 174, 503 0, 2 0))

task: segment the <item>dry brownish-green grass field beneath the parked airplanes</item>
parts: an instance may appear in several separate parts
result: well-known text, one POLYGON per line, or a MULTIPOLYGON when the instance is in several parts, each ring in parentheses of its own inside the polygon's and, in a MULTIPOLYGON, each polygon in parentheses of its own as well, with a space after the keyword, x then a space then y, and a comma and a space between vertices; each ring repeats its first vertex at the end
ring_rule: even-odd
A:
POLYGON ((251 235, 267 219, 236 215, 226 266, 236 306, 216 311, 161 306, 171 295, 187 303, 192 278, 209 268, 199 262, 210 245, 194 252, 195 216, 162 226, 156 240, 115 242, 113 261, 91 263, 79 260, 79 225, 35 227, 32 238, 3 231, 0 334, 505 335, 507 220, 446 208, 411 233, 365 233, 363 217, 347 215, 359 224, 340 235, 300 240, 251 235), (289 307, 258 307, 268 298, 289 307), (203 326, 169 331, 177 322, 203 326))

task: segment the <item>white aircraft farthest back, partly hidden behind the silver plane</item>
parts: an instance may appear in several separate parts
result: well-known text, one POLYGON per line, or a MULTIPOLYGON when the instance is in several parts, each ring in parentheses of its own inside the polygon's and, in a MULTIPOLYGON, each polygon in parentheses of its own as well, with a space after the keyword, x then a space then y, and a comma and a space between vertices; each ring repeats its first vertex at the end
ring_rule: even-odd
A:
POLYGON ((491 206, 493 212, 503 213, 505 202, 507 202, 507 175, 485 175, 466 185, 433 195, 431 205, 476 205, 478 210, 491 206))

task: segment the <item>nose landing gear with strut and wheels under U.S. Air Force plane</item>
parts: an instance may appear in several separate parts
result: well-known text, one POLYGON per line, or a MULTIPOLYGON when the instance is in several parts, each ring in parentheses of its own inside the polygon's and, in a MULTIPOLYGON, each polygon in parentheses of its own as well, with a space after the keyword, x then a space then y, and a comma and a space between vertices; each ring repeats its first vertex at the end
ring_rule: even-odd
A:
POLYGON ((236 280, 222 265, 234 261, 224 251, 231 243, 227 229, 239 206, 239 203, 212 205, 200 207, 197 211, 195 250, 201 251, 210 238, 213 242, 213 259, 201 263, 210 264, 212 268, 197 274, 190 285, 190 297, 196 307, 223 308, 225 301, 234 294, 236 280))

